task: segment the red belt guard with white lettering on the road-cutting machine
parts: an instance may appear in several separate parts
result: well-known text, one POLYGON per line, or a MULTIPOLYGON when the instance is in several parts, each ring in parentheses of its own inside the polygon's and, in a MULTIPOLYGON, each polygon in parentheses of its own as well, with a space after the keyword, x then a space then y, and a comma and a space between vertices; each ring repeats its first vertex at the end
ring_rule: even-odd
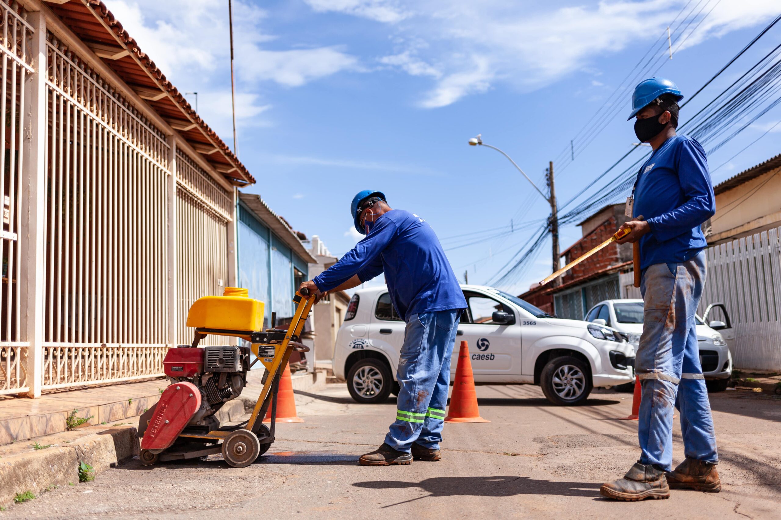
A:
MULTIPOLYGON (((192 350, 199 350, 192 348, 192 350)), ((203 351, 201 351, 203 352, 203 351)), ((165 449, 173 444, 201 408, 201 392, 192 383, 174 383, 166 388, 141 439, 144 450, 165 449)))

